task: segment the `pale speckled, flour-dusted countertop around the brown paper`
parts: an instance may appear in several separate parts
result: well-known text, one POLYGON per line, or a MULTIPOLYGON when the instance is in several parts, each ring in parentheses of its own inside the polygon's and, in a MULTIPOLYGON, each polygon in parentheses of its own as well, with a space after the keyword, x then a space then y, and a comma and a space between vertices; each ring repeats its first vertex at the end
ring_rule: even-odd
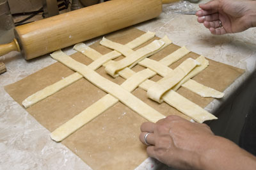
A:
MULTIPOLYGON (((214 36, 195 15, 162 13, 154 20, 136 26, 143 31, 153 31, 163 37, 167 35, 173 43, 186 47, 207 58, 243 68, 246 72, 225 91, 226 98, 236 91, 256 66, 256 28, 234 35, 214 36)), ((87 45, 95 42, 90 40, 87 45)), ((74 51, 65 49, 68 54, 74 51)), ((4 86, 19 81, 36 71, 55 63, 49 55, 26 61, 18 52, 0 58, 7 72, 0 75, 0 169, 90 169, 83 160, 63 144, 55 143, 50 132, 42 127, 26 110, 4 91, 4 86)), ((205 109, 213 112, 221 102, 214 100, 205 109)), ((148 158, 137 169, 161 167, 148 158)))

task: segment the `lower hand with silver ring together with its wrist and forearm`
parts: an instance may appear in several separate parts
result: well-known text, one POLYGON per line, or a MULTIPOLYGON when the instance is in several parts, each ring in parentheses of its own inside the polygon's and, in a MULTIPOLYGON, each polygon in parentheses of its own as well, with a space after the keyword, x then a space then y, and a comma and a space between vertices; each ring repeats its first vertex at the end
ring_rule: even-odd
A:
POLYGON ((256 167, 256 157, 252 154, 214 135, 204 123, 191 123, 179 116, 143 123, 140 141, 149 144, 149 157, 178 169, 249 170, 256 167))

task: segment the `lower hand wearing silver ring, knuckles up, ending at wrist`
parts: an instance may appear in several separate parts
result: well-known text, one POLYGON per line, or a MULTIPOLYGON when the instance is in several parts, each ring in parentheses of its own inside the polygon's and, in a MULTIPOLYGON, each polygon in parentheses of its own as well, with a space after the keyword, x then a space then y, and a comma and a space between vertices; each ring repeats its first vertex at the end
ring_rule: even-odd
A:
POLYGON ((207 125, 191 123, 179 116, 168 116, 157 123, 143 123, 141 143, 146 144, 144 137, 148 132, 148 156, 180 169, 199 169, 202 152, 214 137, 207 125))

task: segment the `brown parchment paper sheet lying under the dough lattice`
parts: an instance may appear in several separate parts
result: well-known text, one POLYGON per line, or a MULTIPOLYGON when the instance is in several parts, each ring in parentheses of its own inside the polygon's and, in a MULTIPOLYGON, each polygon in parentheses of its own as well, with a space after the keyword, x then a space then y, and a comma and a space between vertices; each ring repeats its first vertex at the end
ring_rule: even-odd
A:
MULTIPOLYGON (((143 31, 138 29, 128 28, 112 33, 107 38, 114 42, 125 44, 143 33, 143 31)), ((94 43, 91 47, 102 54, 111 51, 99 45, 99 42, 94 43)), ((177 45, 169 45, 161 50, 161 52, 150 57, 150 59, 156 59, 158 61, 178 48, 179 46, 177 45)), ((175 68, 186 58, 195 59, 198 56, 198 54, 190 52, 170 67, 175 68)), ((91 59, 83 56, 79 52, 73 54, 72 58, 86 65, 92 62, 91 59)), ((244 70, 239 68, 218 63, 211 59, 209 59, 209 63, 210 65, 193 79, 219 91, 224 91, 224 89, 230 86, 244 72, 244 70)), ((138 65, 132 68, 135 72, 142 69, 145 68, 138 65)), ((125 81, 122 77, 113 79, 105 73, 103 67, 100 67, 97 72, 117 84, 125 81)), ((60 81, 63 77, 67 77, 72 73, 74 72, 66 66, 60 63, 54 63, 4 88, 15 101, 22 105, 22 101, 29 95, 54 82, 60 81)), ((160 78, 156 75, 152 80, 157 81, 160 78)), ((199 97, 184 88, 180 88, 178 93, 201 107, 205 107, 213 100, 212 98, 199 97)), ((140 88, 134 90, 132 94, 164 115, 176 114, 189 119, 166 103, 158 104, 148 99, 146 91, 140 88)), ((27 111, 39 123, 52 132, 104 95, 106 95, 104 91, 95 87, 92 83, 86 81, 86 79, 81 79, 51 97, 47 97, 41 102, 29 107, 27 111)), ((141 118, 136 112, 133 112, 121 102, 118 102, 90 123, 77 130, 77 132, 67 137, 62 143, 93 169, 134 169, 147 158, 145 146, 138 139, 140 125, 144 121, 146 120, 141 118)))

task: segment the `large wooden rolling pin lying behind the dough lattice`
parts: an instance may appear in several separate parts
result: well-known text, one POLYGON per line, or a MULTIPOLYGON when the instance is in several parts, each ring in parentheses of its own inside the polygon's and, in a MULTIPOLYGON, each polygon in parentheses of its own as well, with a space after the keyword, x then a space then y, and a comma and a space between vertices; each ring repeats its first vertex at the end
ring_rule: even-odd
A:
POLYGON ((75 43, 154 19, 163 3, 177 0, 116 0, 15 27, 13 42, 0 45, 0 56, 13 50, 32 59, 75 43))

